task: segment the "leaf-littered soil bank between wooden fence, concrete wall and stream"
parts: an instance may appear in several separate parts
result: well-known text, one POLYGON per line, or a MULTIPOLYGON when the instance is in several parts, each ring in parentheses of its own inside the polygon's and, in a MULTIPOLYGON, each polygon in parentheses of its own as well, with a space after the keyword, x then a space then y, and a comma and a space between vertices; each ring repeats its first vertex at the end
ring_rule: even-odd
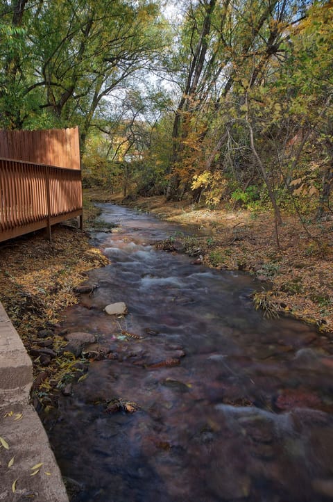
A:
MULTIPOLYGON (((88 206, 85 225, 98 216, 88 206)), ((108 259, 92 248, 76 221, 52 227, 51 243, 42 230, 0 244, 0 301, 33 360, 37 408, 52 405, 52 395, 83 372, 75 357, 64 353, 65 341, 55 331, 60 313, 78 302, 76 287, 87 270, 105 264, 108 259)))

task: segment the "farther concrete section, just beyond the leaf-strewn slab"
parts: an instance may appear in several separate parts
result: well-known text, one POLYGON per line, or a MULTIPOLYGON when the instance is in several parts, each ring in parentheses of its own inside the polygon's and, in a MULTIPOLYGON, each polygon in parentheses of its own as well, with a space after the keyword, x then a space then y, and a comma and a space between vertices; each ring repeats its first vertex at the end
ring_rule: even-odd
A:
POLYGON ((0 407, 26 402, 33 383, 33 364, 0 303, 0 407))

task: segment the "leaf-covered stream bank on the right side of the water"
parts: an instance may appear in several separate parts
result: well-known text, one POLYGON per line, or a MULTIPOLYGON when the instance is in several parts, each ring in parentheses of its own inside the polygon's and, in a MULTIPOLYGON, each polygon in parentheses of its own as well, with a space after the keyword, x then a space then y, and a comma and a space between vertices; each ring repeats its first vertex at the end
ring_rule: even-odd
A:
MULTIPOLYGON (((85 191, 87 199, 121 203, 120 195, 108 191, 85 191)), ((280 249, 275 242, 271 213, 238 209, 198 207, 189 201, 167 202, 165 197, 134 197, 126 204, 148 211, 163 220, 197 229, 196 238, 185 238, 185 250, 203 257, 207 266, 244 270, 259 278, 255 305, 266 315, 290 315, 333 332, 333 220, 307 217, 307 232, 321 242, 321 254, 295 216, 284 215, 279 229, 280 249)), ((194 231, 195 234, 195 231, 194 231)), ((180 235, 177 236, 178 240, 180 235)))

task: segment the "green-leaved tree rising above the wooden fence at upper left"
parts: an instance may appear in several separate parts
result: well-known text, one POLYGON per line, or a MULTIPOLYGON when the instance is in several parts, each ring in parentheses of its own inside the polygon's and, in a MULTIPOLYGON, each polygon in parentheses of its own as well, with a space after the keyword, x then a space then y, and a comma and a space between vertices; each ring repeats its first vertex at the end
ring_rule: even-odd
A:
POLYGON ((17 22, 17 4, 29 57, 17 50, 11 58, 12 75, 4 77, 3 88, 10 96, 7 122, 12 128, 30 127, 31 115, 42 118, 46 112, 50 124, 79 124, 84 149, 94 113, 104 97, 126 86, 128 78, 151 64, 163 49, 166 42, 158 3, 17 0, 8 6, 4 2, 3 19, 12 26, 17 22), (9 93, 13 87, 21 97, 19 106, 9 93))

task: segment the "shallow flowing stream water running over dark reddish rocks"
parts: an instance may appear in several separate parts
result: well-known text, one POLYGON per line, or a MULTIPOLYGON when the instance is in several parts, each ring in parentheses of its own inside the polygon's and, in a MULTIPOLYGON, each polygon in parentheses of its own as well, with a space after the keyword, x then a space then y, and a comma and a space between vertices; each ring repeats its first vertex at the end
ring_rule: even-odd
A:
POLYGON ((255 311, 253 277, 155 250, 179 227, 102 209, 120 225, 94 236, 110 265, 62 327, 110 352, 46 422, 72 500, 332 500, 330 340, 255 311), (127 316, 103 311, 120 301, 127 316))

